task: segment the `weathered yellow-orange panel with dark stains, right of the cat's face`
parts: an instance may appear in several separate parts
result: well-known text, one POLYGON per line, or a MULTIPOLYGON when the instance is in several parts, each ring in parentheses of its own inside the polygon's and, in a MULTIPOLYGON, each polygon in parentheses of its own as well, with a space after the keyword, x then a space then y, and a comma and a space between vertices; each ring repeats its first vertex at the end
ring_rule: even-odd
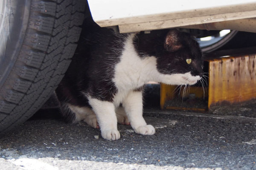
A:
POLYGON ((256 54, 209 60, 208 108, 256 98, 256 54))

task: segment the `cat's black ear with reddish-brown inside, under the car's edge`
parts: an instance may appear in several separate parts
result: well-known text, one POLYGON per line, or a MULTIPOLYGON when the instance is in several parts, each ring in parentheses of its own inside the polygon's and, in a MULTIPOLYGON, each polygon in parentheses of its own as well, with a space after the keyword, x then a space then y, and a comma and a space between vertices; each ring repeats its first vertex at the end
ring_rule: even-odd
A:
POLYGON ((175 52, 179 50, 182 45, 178 40, 178 34, 180 32, 177 29, 171 29, 166 34, 166 39, 164 41, 164 48, 169 52, 175 52))

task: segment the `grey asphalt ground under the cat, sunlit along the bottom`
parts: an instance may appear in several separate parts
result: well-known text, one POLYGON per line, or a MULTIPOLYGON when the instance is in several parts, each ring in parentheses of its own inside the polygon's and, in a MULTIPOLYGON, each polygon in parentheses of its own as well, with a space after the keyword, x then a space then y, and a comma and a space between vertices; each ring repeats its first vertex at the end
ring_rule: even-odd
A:
MULTIPOLYGON (((52 110, 52 114, 55 110, 52 110)), ((254 114, 254 113, 251 113, 254 114)), ((0 167, 12 170, 256 170, 256 118, 149 111, 153 136, 118 125, 107 141, 86 123, 32 119, 0 138, 0 167), (154 116, 154 117, 153 117, 154 116)))

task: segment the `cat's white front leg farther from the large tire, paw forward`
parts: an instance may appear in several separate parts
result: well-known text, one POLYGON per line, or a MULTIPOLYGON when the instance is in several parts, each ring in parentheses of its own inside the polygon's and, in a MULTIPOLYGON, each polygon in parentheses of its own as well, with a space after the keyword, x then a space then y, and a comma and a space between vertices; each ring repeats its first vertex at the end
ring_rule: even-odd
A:
POLYGON ((143 99, 141 91, 130 91, 123 101, 127 117, 131 123, 131 127, 136 133, 143 135, 153 135, 155 129, 152 125, 147 125, 143 114, 143 99))

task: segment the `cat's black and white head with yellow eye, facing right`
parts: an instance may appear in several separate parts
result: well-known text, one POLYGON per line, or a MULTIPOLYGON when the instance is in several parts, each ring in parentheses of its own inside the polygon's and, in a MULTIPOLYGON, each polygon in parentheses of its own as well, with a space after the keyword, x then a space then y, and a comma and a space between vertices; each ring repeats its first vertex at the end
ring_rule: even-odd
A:
POLYGON ((160 82, 193 85, 204 75, 198 42, 185 32, 171 29, 162 39, 163 50, 156 53, 160 82))

